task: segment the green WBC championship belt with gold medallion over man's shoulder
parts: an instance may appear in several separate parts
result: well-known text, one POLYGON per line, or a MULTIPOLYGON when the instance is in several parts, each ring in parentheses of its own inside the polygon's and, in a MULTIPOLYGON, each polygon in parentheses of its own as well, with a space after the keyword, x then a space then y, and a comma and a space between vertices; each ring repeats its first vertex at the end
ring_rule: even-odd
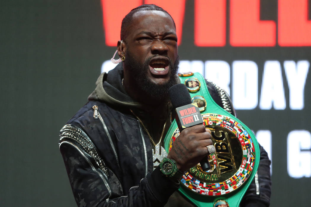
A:
MULTIPOLYGON (((208 155, 211 169, 205 172, 200 164, 189 169, 180 179, 179 191, 197 206, 239 206, 258 169, 258 142, 245 124, 215 103, 201 74, 182 73, 179 78, 197 103, 216 148, 208 155)), ((179 133, 174 121, 164 139, 166 151, 179 133)))

